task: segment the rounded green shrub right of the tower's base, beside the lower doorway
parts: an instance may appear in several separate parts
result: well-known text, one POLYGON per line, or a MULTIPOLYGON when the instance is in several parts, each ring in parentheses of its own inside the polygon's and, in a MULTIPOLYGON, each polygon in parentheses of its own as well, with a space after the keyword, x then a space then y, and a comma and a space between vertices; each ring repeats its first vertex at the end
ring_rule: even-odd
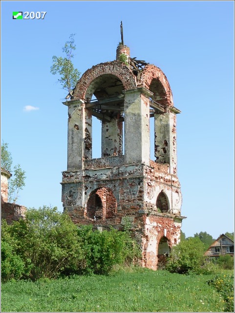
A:
POLYGON ((166 269, 171 273, 200 273, 204 262, 204 244, 199 238, 187 238, 187 240, 173 246, 166 269))

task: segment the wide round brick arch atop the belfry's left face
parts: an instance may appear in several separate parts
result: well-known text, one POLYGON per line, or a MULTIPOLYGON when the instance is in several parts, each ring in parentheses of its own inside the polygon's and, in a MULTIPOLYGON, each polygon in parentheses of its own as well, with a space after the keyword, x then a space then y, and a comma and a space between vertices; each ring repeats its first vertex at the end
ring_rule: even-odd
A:
MULTIPOLYGON (((122 62, 112 61, 100 63, 90 69, 87 69, 77 82, 73 93, 74 98, 85 100, 87 89, 90 87, 91 83, 102 75, 116 76, 122 82, 124 90, 136 88, 136 82, 132 71, 122 62)), ((89 93, 90 92, 92 92, 92 90, 89 91, 89 93)))

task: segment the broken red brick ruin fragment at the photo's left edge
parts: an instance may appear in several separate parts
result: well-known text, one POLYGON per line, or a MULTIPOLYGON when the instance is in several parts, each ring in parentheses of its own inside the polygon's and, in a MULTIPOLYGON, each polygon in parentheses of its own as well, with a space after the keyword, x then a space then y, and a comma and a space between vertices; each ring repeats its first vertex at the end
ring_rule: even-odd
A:
POLYGON ((8 179, 12 175, 1 169, 1 219, 6 220, 7 224, 13 221, 19 221, 24 218, 26 207, 8 202, 8 179))

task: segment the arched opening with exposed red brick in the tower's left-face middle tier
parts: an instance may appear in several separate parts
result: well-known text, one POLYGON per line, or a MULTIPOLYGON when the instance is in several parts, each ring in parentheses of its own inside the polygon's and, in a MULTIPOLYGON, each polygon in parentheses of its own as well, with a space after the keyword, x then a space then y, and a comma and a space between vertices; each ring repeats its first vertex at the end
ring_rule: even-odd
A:
POLYGON ((109 188, 99 188, 91 192, 86 203, 86 217, 94 220, 105 220, 115 216, 117 201, 109 188))

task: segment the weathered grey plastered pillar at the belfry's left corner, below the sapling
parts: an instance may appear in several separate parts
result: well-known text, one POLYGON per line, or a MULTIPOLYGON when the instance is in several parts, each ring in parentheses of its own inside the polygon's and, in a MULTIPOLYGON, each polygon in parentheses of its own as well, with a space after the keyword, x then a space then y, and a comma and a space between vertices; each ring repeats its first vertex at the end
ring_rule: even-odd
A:
POLYGON ((68 106, 67 170, 83 168, 85 159, 92 158, 92 115, 83 100, 63 102, 68 106))

